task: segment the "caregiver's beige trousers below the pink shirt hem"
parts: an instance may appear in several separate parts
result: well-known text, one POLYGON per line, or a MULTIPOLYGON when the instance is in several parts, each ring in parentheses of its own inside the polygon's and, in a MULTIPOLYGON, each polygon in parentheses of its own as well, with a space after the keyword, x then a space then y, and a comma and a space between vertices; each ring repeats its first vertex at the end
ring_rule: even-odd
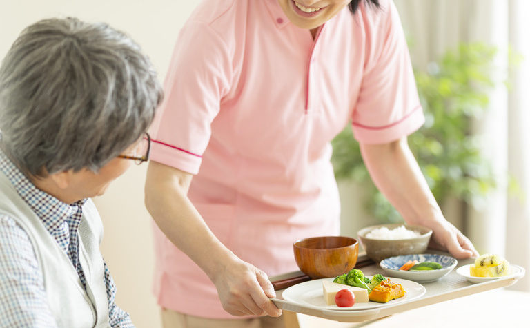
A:
POLYGON ((162 309, 164 328, 285 328, 284 318, 263 316, 253 319, 209 319, 188 316, 170 309, 162 309))

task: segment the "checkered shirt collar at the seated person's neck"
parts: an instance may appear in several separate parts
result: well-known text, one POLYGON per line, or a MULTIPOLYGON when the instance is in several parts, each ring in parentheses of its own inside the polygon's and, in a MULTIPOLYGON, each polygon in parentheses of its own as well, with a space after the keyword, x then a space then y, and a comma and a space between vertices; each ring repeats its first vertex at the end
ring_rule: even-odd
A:
POLYGON ((0 150, 0 171, 8 177, 14 189, 32 211, 42 220, 46 230, 53 233, 59 229, 61 224, 68 220, 68 217, 77 212, 78 206, 81 206, 86 200, 66 204, 61 202, 52 195, 41 191, 32 182, 23 175, 23 173, 14 165, 8 156, 0 150))

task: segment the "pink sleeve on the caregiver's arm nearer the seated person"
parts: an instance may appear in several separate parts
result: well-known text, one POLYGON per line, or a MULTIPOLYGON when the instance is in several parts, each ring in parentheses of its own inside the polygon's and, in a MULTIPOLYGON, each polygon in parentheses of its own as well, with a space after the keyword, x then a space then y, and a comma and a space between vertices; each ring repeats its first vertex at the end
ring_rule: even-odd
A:
POLYGON ((181 30, 164 81, 164 102, 150 128, 151 160, 197 174, 231 79, 224 41, 206 23, 181 30))

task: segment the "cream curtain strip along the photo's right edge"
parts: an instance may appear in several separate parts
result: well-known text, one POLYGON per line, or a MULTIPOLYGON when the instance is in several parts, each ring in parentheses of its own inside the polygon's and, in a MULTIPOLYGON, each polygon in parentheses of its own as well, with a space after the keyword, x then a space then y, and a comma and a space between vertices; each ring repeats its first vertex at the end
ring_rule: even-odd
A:
MULTIPOLYGON (((530 270, 530 1, 509 1, 509 43, 524 56, 510 72, 508 168, 520 186, 520 197, 508 197, 506 253, 530 270)), ((530 278, 513 289, 530 291, 530 278)))

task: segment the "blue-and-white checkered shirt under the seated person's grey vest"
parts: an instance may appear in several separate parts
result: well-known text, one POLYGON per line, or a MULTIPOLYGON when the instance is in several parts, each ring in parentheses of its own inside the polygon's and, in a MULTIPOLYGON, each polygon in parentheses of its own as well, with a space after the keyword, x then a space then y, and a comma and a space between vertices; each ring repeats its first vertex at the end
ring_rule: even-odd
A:
MULTIPOLYGON (((79 264, 77 228, 83 204, 66 204, 45 193, 19 171, 0 151, 0 174, 8 177, 20 197, 42 220, 57 244, 77 269, 83 285, 86 279, 79 264)), ((107 264, 105 285, 111 327, 134 327, 126 311, 115 304, 116 286, 107 264)), ((57 327, 48 308, 42 271, 28 235, 6 215, 0 214, 0 327, 57 327)))

